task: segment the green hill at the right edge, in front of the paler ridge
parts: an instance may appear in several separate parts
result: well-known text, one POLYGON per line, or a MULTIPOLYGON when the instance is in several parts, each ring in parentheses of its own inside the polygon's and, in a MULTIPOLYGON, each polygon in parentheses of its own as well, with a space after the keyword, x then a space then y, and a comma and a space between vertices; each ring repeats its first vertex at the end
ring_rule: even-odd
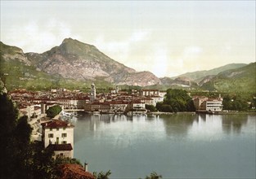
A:
POLYGON ((256 92, 256 63, 245 67, 226 70, 202 83, 202 89, 234 93, 256 92))

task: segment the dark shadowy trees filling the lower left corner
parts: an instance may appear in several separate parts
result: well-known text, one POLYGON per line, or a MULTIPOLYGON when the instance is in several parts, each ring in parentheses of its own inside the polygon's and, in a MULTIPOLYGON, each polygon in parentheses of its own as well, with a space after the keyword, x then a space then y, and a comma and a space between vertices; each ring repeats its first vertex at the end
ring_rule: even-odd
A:
POLYGON ((51 151, 43 142, 30 142, 32 129, 27 116, 18 118, 16 105, 0 94, 0 178, 55 178, 51 151))

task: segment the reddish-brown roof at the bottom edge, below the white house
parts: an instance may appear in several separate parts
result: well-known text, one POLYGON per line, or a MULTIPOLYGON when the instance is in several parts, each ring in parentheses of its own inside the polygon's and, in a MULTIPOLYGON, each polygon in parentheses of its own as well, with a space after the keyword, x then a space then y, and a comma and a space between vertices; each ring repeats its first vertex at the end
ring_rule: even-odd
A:
POLYGON ((92 173, 85 172, 79 164, 61 164, 57 170, 61 179, 94 179, 92 173))

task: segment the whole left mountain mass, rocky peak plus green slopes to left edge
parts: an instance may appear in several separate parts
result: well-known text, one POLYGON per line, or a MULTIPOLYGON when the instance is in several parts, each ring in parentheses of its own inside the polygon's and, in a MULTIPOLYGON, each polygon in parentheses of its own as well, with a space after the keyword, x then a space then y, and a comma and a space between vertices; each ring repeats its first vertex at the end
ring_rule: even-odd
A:
MULTIPOLYGON (((67 38, 61 46, 38 53, 24 53, 19 47, 1 42, 1 79, 7 89, 106 85, 159 84, 151 72, 136 72, 104 55, 95 46, 67 38), (43 87, 44 86, 44 87, 43 87)), ((84 88, 83 87, 83 88, 84 88)))

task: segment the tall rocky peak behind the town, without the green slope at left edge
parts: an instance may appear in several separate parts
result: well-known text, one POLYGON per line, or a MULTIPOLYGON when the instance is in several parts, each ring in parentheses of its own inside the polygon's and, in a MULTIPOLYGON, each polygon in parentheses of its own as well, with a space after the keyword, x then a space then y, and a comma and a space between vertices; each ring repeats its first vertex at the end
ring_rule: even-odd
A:
POLYGON ((103 54, 95 46, 66 38, 61 46, 43 54, 27 53, 29 62, 48 74, 74 80, 101 78, 116 85, 154 85, 160 83, 151 72, 136 72, 103 54))

